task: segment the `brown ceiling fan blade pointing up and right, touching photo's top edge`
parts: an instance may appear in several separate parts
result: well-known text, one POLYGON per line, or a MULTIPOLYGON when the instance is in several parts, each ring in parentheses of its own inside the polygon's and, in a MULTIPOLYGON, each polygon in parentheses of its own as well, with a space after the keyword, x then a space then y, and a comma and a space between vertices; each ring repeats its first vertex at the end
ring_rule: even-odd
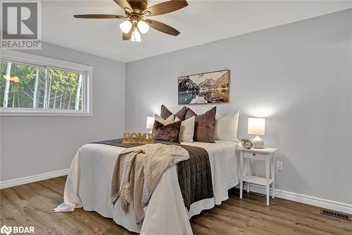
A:
POLYGON ((186 0, 170 0, 164 1, 161 4, 150 6, 149 8, 146 8, 143 13, 146 14, 146 16, 158 16, 165 13, 170 13, 172 11, 180 10, 185 6, 188 6, 186 0))

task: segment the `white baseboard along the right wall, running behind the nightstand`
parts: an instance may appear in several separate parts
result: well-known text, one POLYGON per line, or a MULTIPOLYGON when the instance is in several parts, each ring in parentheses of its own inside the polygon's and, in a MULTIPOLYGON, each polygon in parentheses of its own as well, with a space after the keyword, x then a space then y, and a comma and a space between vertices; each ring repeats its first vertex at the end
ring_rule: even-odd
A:
MULTIPOLYGON (((239 188, 239 186, 236 186, 236 188, 239 188)), ((244 188, 246 188, 246 187, 244 187, 244 188)), ((255 185, 255 184, 251 184, 250 191, 256 192, 256 193, 261 193, 261 194, 266 193, 265 186, 260 186, 260 185, 255 185)), ((316 197, 312 197, 310 195, 292 193, 289 191, 281 191, 280 192, 280 190, 277 188, 275 188, 275 197, 286 199, 286 200, 292 200, 292 201, 298 202, 298 203, 314 205, 316 207, 323 207, 323 208, 330 209, 330 210, 337 210, 339 212, 344 212, 344 213, 352 215, 352 205, 347 204, 347 203, 339 203, 334 200, 316 198, 316 197)), ((271 198, 271 196, 270 196, 270 198, 271 198)))

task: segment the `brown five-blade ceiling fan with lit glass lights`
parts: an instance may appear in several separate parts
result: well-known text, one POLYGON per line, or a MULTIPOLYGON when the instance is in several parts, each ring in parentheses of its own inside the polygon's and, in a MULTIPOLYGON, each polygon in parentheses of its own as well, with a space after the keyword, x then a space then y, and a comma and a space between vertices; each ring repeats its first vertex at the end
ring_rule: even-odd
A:
POLYGON ((149 31, 149 27, 168 35, 177 36, 180 34, 178 30, 172 28, 156 20, 145 19, 149 16, 159 16, 172 11, 180 10, 188 6, 186 0, 170 0, 164 1, 153 6, 148 5, 148 0, 113 0, 124 11, 126 16, 108 15, 108 14, 87 14, 75 15, 75 18, 88 19, 127 19, 120 23, 120 29, 123 32, 123 40, 131 40, 132 42, 141 42, 142 34, 149 31))

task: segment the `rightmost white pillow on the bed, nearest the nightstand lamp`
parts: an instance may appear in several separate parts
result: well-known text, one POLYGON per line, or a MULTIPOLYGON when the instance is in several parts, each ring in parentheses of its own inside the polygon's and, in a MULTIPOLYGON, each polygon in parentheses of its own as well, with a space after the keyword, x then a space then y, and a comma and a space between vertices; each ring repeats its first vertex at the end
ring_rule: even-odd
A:
POLYGON ((215 140, 227 140, 239 143, 237 139, 237 128, 239 125, 239 111, 222 117, 216 113, 215 116, 215 140))

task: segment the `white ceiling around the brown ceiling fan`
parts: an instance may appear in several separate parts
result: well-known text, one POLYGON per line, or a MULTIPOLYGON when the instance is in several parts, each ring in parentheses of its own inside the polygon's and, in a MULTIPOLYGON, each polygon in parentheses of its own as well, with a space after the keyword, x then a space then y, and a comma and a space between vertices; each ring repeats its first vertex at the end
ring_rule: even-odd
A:
MULTIPOLYGON (((122 41, 122 20, 73 18, 84 13, 123 14, 113 0, 43 1, 42 40, 128 62, 352 7, 352 1, 188 2, 189 6, 179 11, 152 17, 176 28, 180 35, 151 29, 142 35, 142 42, 130 42, 122 41)), ((149 1, 149 6, 155 3, 149 1)))

